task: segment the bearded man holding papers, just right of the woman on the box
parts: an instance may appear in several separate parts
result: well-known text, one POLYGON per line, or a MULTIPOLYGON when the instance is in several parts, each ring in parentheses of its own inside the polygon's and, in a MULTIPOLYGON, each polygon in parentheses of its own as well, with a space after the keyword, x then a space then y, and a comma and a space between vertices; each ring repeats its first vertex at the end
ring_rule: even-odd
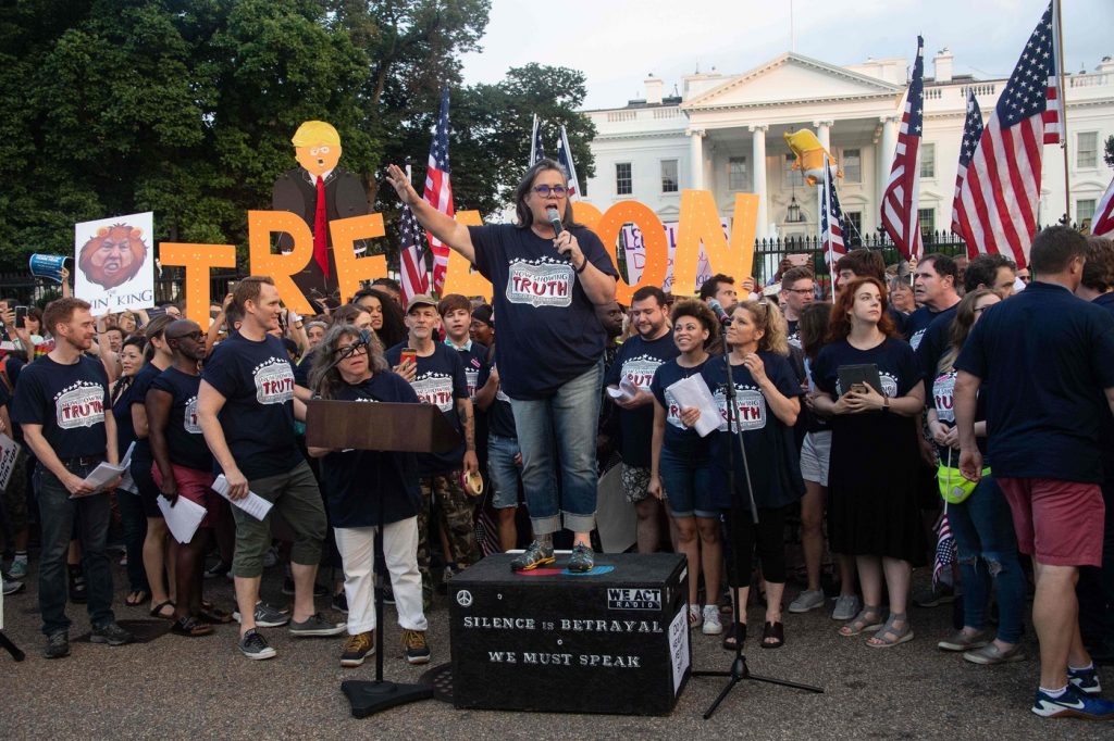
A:
POLYGON ((638 516, 638 553, 654 553, 661 541, 662 502, 649 495, 654 396, 649 383, 657 366, 678 355, 670 334, 665 294, 655 286, 635 292, 631 315, 637 330, 619 350, 607 374, 607 393, 619 407, 623 492, 638 516))

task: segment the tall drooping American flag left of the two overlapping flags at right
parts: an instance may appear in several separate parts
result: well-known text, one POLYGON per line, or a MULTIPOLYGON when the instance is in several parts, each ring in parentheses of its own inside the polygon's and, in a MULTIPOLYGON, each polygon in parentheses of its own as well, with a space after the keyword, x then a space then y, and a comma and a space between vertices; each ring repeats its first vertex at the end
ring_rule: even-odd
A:
POLYGON ((917 61, 906 96, 897 151, 890 168, 890 180, 882 196, 882 226, 886 234, 909 259, 919 256, 920 219, 920 135, 925 121, 925 39, 917 37, 917 61))

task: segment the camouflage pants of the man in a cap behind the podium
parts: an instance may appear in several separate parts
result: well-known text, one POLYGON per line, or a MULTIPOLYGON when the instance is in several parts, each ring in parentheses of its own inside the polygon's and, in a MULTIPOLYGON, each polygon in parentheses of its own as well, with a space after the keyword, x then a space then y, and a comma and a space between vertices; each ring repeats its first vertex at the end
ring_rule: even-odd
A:
POLYGON ((449 540, 450 553, 444 554, 444 560, 455 561, 460 569, 480 560, 473 518, 473 504, 477 500, 465 493, 459 471, 443 476, 424 476, 419 480, 419 485, 421 508, 418 511, 418 571, 421 572, 422 590, 431 593, 433 580, 429 572, 429 516, 433 508, 433 497, 437 497, 440 507, 438 524, 449 540))

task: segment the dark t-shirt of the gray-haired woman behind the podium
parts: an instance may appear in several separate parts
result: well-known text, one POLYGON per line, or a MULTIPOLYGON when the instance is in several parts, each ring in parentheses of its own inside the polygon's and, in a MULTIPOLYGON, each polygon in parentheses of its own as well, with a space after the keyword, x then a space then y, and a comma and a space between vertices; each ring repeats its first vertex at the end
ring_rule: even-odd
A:
MULTIPOLYGON (((345 384, 335 398, 345 402, 418 404, 418 395, 401 376, 385 370, 359 384, 345 384)), ((322 490, 334 527, 371 527, 418 514, 418 463, 413 453, 343 451, 321 460, 322 490)))

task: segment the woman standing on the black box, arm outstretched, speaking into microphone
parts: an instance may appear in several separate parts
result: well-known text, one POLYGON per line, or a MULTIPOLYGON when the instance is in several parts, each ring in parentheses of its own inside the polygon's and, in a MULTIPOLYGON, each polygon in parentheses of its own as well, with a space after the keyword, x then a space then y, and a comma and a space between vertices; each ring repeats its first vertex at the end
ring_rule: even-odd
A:
POLYGON ((515 189, 514 225, 458 224, 422 200, 395 165, 387 180, 419 224, 491 281, 499 376, 515 414, 535 537, 511 567, 554 563, 553 534, 564 515, 575 534, 567 567, 592 571, 596 419, 607 339, 595 307, 615 299, 610 258, 595 234, 573 223, 565 172, 551 159, 535 162, 515 189))

